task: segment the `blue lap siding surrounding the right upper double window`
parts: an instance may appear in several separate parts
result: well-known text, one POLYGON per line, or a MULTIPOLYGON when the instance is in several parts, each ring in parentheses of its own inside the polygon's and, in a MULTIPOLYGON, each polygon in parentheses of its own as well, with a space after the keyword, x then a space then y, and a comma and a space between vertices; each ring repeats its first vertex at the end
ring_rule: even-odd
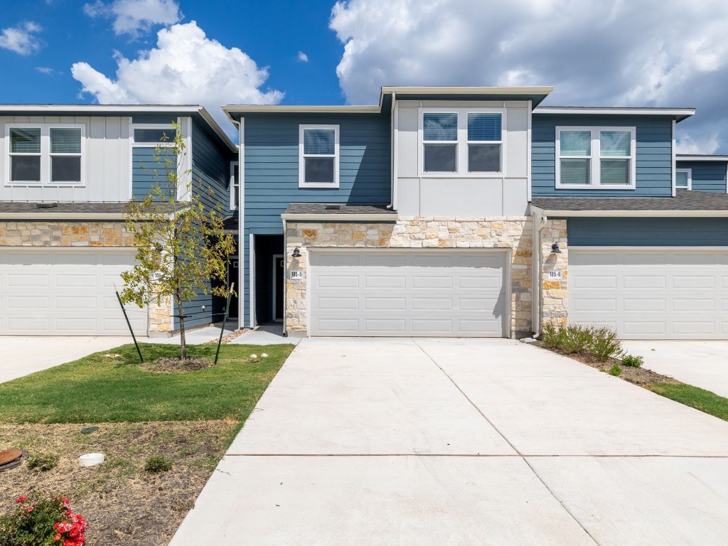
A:
POLYGON ((534 114, 531 194, 534 197, 670 197, 672 120, 658 116, 534 114), (636 189, 556 189, 556 127, 636 127, 636 189))

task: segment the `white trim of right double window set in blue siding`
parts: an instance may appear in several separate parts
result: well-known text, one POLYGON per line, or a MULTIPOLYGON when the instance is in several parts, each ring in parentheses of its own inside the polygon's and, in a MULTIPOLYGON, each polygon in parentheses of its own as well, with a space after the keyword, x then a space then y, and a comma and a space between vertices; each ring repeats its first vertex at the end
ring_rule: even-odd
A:
POLYGON ((556 189, 614 189, 614 190, 634 190, 636 189, 636 173, 637 173, 637 145, 636 145, 636 127, 614 127, 606 125, 557 125, 555 127, 555 188, 556 189), (586 156, 561 156, 561 131, 590 131, 591 132, 591 149, 589 156, 589 183, 587 184, 563 184, 561 183, 561 159, 587 159, 586 156), (601 132, 602 131, 622 131, 630 133, 630 155, 629 157, 620 158, 618 156, 602 157, 601 155, 601 132), (630 161, 630 181, 625 185, 603 184, 601 183, 601 160, 602 159, 629 159, 630 161))

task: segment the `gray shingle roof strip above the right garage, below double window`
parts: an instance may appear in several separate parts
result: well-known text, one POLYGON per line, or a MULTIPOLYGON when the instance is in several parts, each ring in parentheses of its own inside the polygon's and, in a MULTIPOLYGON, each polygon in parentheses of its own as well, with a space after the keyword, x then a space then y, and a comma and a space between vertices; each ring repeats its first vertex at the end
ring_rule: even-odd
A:
POLYGON ((728 210, 728 194, 678 190, 676 197, 534 197, 543 210, 728 210))

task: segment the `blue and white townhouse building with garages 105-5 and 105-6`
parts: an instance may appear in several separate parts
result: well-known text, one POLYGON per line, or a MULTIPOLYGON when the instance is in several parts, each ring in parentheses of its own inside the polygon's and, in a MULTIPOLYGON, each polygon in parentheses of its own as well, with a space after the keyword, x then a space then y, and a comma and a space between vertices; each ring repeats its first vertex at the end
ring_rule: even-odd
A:
POLYGON ((240 127, 241 324, 727 339, 728 157, 676 154, 692 108, 539 107, 551 89, 223 107, 240 127))

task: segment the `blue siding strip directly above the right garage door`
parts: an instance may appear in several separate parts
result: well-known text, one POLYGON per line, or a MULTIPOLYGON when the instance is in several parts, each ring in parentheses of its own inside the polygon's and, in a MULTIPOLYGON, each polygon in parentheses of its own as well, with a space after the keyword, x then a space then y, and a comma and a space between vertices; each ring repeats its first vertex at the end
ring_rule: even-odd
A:
POLYGON ((569 218, 569 246, 728 246, 728 218, 569 218))

